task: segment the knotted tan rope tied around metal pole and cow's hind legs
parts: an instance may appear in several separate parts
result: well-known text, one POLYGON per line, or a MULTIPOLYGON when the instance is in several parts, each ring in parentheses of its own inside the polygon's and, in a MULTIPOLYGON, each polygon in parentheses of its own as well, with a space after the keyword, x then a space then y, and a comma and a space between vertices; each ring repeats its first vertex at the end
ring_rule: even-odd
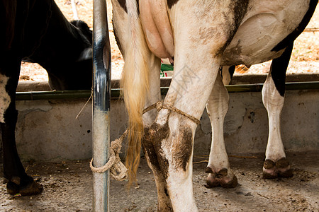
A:
MULTIPOLYGON (((156 102, 155 104, 150 105, 149 107, 145 108, 142 111, 142 114, 145 114, 145 112, 148 112, 148 111, 153 110, 155 108, 156 108, 157 112, 159 112, 162 109, 167 109, 167 110, 171 110, 173 112, 177 112, 178 114, 181 114, 184 117, 191 119, 191 121, 195 122, 196 124, 201 123, 200 120, 196 119, 195 117, 193 117, 189 114, 182 112, 181 110, 177 109, 176 107, 173 107, 171 105, 164 105, 164 103, 162 101, 156 102)), ((109 150, 110 151, 109 152, 110 158, 108 159, 108 163, 106 163, 106 165, 103 165, 101 167, 94 167, 93 166, 93 159, 91 159, 90 167, 91 167, 92 172, 103 173, 103 172, 106 172, 107 170, 110 169, 111 177, 113 177, 114 179, 116 179, 118 181, 123 181, 124 179, 126 179, 126 177, 128 177, 128 169, 121 162, 121 158, 119 155, 121 148, 122 148, 122 142, 125 139, 127 134, 128 134, 128 129, 125 130, 125 132, 123 133, 123 135, 119 139, 116 139, 115 141, 111 142, 111 147, 109 150)))

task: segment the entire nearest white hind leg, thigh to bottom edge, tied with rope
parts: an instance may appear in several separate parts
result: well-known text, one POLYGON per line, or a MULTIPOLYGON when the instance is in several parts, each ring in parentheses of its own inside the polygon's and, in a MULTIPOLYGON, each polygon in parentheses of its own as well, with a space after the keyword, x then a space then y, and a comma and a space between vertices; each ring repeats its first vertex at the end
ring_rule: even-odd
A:
POLYGON ((164 105, 178 110, 163 108, 150 131, 157 139, 157 158, 174 211, 198 211, 192 184, 196 124, 219 74, 221 54, 246 8, 247 1, 178 1, 169 14, 174 76, 164 105))

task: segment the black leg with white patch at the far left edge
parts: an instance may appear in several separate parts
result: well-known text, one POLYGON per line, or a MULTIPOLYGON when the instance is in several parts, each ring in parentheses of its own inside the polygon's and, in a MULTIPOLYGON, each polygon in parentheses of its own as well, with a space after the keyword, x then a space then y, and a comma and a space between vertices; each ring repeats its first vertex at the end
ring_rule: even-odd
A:
POLYGON ((8 179, 9 194, 32 195, 42 192, 43 187, 34 182, 26 174, 16 149, 15 129, 18 117, 16 111, 16 86, 21 66, 21 60, 6 55, 0 66, 0 125, 4 151, 4 177, 8 179))

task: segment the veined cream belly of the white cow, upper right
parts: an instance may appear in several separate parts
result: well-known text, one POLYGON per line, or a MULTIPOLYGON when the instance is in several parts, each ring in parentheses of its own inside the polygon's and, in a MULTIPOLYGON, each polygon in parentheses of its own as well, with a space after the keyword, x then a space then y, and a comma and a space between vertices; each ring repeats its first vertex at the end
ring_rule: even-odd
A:
POLYGON ((272 49, 295 30, 310 0, 250 1, 247 14, 223 53, 221 65, 258 64, 279 57, 272 49))

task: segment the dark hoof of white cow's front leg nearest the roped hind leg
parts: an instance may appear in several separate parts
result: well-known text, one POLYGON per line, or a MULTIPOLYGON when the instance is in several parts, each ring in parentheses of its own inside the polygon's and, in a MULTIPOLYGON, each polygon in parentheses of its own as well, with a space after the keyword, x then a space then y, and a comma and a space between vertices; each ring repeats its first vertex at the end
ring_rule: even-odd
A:
POLYGON ((205 187, 210 189, 212 187, 223 187, 226 189, 235 188, 238 184, 237 177, 233 175, 233 172, 228 175, 227 169, 213 172, 210 167, 206 167, 206 173, 209 173, 206 179, 205 187))

